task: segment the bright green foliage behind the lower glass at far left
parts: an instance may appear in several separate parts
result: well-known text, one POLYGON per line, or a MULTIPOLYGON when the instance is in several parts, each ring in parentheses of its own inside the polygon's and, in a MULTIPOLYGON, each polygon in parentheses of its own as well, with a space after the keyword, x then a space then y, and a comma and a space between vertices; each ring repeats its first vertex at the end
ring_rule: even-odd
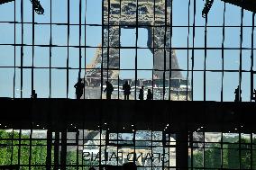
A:
MULTIPOLYGON (((14 131, 13 133, 6 130, 0 130, 0 139, 0 166, 18 165, 19 163, 21 166, 28 165, 30 157, 32 165, 45 165, 46 140, 30 141, 28 135, 19 137, 18 132, 14 131), (31 143, 32 147, 30 147, 31 143)), ((23 169, 28 169, 28 167, 23 167, 23 169)), ((38 169, 38 167, 32 167, 32 169, 38 169)))

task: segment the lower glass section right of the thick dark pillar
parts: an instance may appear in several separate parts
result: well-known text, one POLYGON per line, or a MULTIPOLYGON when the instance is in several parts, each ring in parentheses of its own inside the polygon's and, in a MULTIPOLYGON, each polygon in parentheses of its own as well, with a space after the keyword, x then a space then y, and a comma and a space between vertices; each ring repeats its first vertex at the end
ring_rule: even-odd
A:
POLYGON ((199 131, 191 133, 189 138, 190 168, 256 169, 255 134, 199 131))

